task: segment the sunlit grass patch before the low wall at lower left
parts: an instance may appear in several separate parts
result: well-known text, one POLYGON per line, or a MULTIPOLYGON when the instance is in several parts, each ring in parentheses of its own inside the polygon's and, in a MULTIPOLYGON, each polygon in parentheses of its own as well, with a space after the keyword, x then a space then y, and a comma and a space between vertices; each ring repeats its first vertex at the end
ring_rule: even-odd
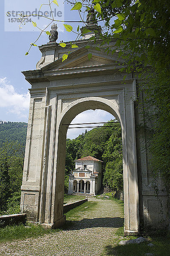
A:
POLYGON ((41 225, 14 225, 0 228, 0 243, 13 241, 13 240, 25 240, 29 237, 43 236, 44 234, 58 232, 58 230, 50 230, 42 227, 41 225))

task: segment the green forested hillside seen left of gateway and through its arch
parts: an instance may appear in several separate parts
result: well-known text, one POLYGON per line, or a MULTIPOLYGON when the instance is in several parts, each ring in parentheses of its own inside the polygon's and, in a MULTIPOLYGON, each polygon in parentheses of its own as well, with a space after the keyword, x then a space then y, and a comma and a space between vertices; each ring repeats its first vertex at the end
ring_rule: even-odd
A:
MULTIPOLYGON (((27 124, 22 122, 0 124, 0 214, 20 212, 26 128, 27 124)), ((75 160, 88 155, 103 161, 103 185, 122 190, 122 139, 117 121, 110 120, 73 140, 66 140, 65 190, 75 160)))

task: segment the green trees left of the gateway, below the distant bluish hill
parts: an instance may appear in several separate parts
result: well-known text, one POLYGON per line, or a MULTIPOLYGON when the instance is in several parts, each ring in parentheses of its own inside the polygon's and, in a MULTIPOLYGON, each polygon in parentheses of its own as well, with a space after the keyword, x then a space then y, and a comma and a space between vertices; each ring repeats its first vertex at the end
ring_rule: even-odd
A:
MULTIPOLYGON (((23 175, 24 146, 4 142, 0 147, 0 212, 8 210, 14 193, 20 193, 23 175)), ((14 201, 14 198, 13 198, 14 201)), ((15 213, 15 212, 13 212, 15 213)))

